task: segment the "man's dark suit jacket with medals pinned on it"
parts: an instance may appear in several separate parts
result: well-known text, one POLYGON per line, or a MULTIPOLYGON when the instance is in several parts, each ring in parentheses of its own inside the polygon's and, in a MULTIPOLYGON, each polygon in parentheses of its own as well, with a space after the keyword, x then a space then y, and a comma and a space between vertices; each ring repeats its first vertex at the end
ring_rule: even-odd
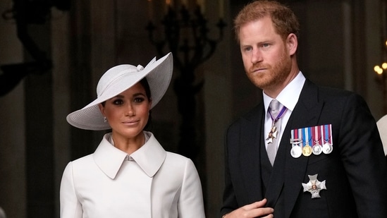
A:
POLYGON ((362 97, 307 80, 266 183, 264 114, 261 103, 228 128, 221 215, 267 198, 266 206, 274 207, 277 218, 387 217, 386 158, 376 122, 362 97), (324 124, 332 125, 333 152, 293 158, 290 131, 324 124), (302 183, 314 174, 326 181, 326 190, 320 191, 321 198, 312 199, 303 192, 302 183))

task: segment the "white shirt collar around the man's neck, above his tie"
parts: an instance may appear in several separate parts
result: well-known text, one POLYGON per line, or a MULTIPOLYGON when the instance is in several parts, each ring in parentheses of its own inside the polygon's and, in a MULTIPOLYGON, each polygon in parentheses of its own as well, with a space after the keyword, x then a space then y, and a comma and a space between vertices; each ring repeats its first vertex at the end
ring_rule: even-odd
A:
MULTIPOLYGON (((300 71, 297 76, 290 81, 288 85, 279 93, 276 97, 278 102, 280 102, 283 106, 285 106, 288 110, 293 111, 295 108, 295 104, 297 104, 298 98, 300 97, 302 86, 305 83, 305 76, 300 71)), ((272 100, 271 97, 264 94, 264 107, 265 111, 269 109, 269 104, 272 100)))

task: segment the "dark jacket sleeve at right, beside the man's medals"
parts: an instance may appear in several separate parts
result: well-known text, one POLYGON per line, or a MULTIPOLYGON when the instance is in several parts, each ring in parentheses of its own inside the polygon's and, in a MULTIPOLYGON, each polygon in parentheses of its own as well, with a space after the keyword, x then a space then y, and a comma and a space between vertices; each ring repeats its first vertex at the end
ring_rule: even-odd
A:
POLYGON ((359 95, 350 95, 338 145, 360 217, 387 217, 387 163, 376 122, 359 95))

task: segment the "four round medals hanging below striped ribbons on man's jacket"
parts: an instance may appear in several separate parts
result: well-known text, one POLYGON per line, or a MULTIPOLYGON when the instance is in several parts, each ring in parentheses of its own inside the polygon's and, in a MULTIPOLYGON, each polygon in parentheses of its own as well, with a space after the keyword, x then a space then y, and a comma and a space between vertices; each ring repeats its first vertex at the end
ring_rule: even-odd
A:
POLYGON ((326 155, 330 154, 333 150, 333 146, 331 143, 324 143, 324 145, 320 145, 318 141, 314 141, 314 145, 310 146, 308 142, 305 142, 305 145, 302 146, 302 139, 290 139, 290 144, 292 144, 292 149, 290 150, 290 155, 294 158, 301 157, 304 155, 305 157, 309 157, 310 155, 321 155, 324 153, 326 155))

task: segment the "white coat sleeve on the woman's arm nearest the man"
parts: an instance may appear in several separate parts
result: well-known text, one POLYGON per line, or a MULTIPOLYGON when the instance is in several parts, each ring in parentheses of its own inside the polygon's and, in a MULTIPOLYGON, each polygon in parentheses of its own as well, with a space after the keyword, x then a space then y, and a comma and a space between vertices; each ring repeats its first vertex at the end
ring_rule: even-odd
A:
POLYGON ((178 200, 178 217, 205 217, 202 184, 191 159, 187 159, 185 164, 183 184, 178 200))

